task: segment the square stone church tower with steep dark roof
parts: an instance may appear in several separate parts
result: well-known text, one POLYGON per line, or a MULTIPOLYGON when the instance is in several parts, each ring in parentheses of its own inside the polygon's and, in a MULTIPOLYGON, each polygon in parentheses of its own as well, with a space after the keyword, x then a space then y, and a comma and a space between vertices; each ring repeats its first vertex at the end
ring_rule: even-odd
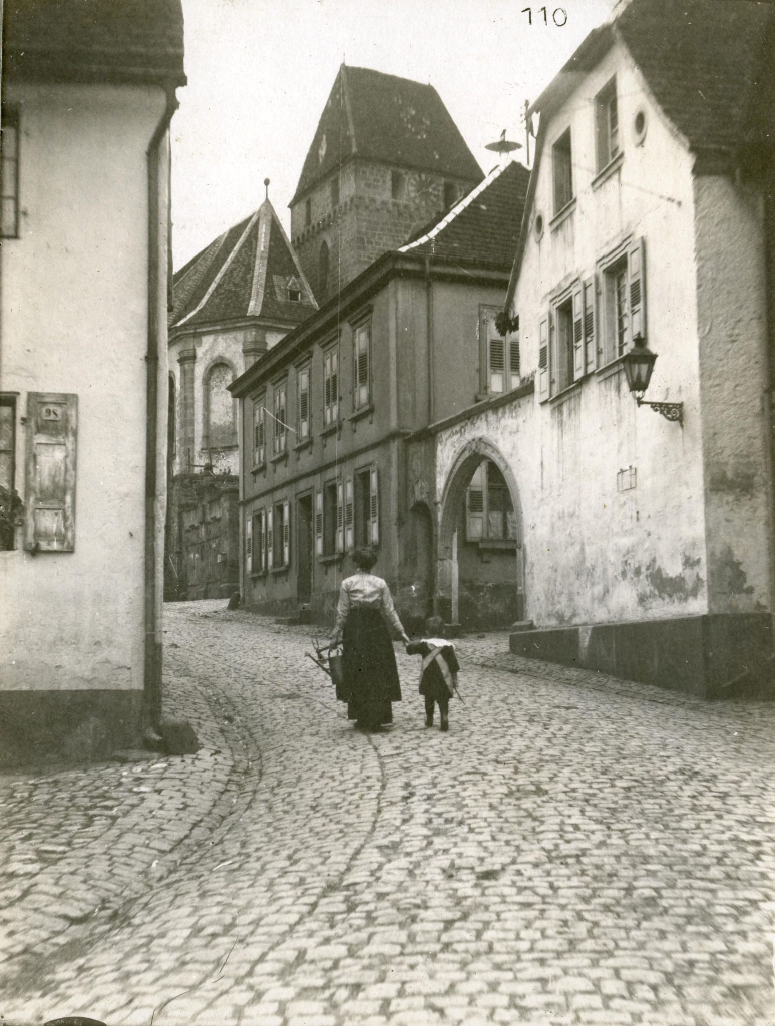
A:
POLYGON ((433 86, 343 64, 289 203, 292 243, 317 302, 482 176, 433 86))

